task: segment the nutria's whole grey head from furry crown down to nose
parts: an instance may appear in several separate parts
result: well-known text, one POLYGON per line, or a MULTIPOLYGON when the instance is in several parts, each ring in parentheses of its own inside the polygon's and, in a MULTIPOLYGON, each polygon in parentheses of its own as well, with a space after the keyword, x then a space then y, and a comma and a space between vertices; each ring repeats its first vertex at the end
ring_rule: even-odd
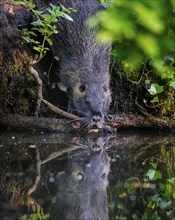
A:
POLYGON ((95 65, 86 62, 83 67, 74 64, 69 68, 63 84, 67 87, 71 108, 85 118, 89 128, 102 128, 111 102, 109 65, 105 60, 103 63, 93 61, 95 65), (86 62, 90 66, 88 69, 85 68, 86 62))

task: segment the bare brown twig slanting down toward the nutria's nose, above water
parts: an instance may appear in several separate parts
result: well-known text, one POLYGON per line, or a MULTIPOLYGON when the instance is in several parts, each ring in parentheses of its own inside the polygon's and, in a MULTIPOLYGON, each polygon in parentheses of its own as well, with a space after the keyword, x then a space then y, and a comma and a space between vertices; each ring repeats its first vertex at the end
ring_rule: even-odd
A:
POLYGON ((45 99, 42 99, 42 101, 47 105, 47 107, 49 107, 53 112, 58 113, 59 115, 66 117, 66 118, 70 118, 70 119, 81 119, 79 116, 77 115, 73 115, 71 113, 68 113, 58 107, 56 107, 55 105, 52 105, 50 102, 46 101, 45 99))

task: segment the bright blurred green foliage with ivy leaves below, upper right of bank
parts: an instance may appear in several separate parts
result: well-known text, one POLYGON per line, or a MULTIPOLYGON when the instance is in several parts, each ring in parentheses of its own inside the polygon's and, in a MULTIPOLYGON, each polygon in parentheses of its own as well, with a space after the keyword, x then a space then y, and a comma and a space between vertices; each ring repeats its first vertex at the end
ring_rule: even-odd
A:
MULTIPOLYGON (((101 2, 105 4, 104 0, 101 2)), ((143 97, 146 106, 158 108, 162 115, 174 115, 175 2, 111 0, 110 3, 110 7, 91 20, 91 25, 98 25, 98 40, 114 42, 113 58, 121 61, 126 79, 146 88, 147 96, 143 97)))

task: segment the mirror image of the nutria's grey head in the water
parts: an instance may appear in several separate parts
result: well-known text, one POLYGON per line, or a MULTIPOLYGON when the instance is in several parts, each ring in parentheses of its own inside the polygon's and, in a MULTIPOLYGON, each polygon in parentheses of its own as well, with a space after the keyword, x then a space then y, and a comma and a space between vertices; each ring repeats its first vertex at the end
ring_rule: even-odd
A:
POLYGON ((107 185, 109 159, 103 139, 89 139, 83 149, 71 156, 58 180, 51 219, 108 219, 107 185))

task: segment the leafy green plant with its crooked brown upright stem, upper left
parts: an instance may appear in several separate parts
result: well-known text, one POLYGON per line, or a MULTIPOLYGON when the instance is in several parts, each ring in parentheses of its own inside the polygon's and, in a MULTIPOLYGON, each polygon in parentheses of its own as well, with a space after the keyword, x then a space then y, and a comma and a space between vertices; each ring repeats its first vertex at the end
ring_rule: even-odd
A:
POLYGON ((41 101, 43 100, 43 82, 40 79, 38 71, 33 67, 34 64, 38 63, 49 50, 46 43, 48 45, 52 45, 51 36, 53 34, 57 34, 58 30, 56 27, 56 23, 59 22, 59 18, 65 18, 69 21, 73 21, 69 14, 72 11, 75 11, 72 8, 65 8, 62 5, 56 6, 50 4, 50 7, 46 8, 45 11, 36 10, 36 5, 27 0, 17 1, 15 4, 25 4, 28 9, 34 14, 36 20, 31 23, 32 28, 30 30, 23 29, 21 32, 21 38, 33 45, 33 49, 37 52, 37 55, 33 57, 29 57, 26 62, 26 67, 28 72, 34 77, 37 82, 37 101, 35 107, 35 115, 38 115, 40 111, 41 101), (38 34, 42 36, 42 40, 40 41, 38 38, 38 34))

